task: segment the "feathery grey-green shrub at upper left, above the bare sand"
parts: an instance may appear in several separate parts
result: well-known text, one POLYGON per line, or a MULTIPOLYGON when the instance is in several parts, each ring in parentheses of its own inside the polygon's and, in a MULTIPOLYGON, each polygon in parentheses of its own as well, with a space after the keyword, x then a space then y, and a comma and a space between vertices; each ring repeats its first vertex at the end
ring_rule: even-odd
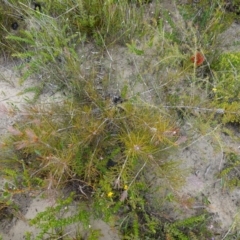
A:
POLYGON ((62 26, 56 19, 40 13, 33 13, 31 23, 31 29, 21 31, 20 36, 7 37, 12 43, 26 44, 27 49, 13 54, 24 61, 28 60, 21 67, 21 83, 29 76, 42 74, 42 84, 48 79, 53 84, 65 86, 76 74, 76 65, 80 64, 75 47, 83 37, 80 33, 70 34, 68 22, 65 21, 62 26))

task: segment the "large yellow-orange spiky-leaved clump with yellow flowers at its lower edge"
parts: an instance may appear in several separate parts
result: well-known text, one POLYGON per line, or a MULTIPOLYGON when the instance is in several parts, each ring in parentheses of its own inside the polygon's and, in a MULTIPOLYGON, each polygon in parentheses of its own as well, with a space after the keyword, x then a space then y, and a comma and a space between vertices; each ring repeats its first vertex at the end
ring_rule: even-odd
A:
MULTIPOLYGON (((2 152, 10 146, 15 152, 5 160, 16 169, 22 191, 54 191, 78 182, 77 192, 87 199, 94 192, 94 211, 109 220, 107 216, 125 202, 136 211, 143 204, 146 186, 141 176, 147 166, 164 173, 168 187, 180 186, 181 175, 174 176, 174 165, 163 158, 177 140, 173 124, 159 110, 135 105, 65 100, 50 108, 25 110, 24 124, 9 128, 11 136, 2 143, 2 152), (107 205, 109 209, 102 209, 107 205)), ((5 173, 8 168, 6 164, 5 173)))

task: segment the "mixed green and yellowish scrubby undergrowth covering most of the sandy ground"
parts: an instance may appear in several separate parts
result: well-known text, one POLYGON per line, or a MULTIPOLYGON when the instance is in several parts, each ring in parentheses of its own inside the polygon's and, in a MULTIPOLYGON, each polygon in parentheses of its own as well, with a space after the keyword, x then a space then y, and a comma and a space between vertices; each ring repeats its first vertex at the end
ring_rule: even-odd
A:
MULTIPOLYGON (((171 204, 188 174, 178 159, 169 158, 179 145, 191 145, 182 126, 197 118, 196 127, 204 135, 206 126, 239 124, 239 53, 218 49, 219 34, 236 16, 227 12, 225 1, 176 2, 176 12, 163 4, 2 4, 2 54, 21 60, 20 83, 29 77, 38 81, 25 89, 34 98, 24 110, 0 109, 22 116, 1 139, 0 173, 7 183, 0 211, 13 214, 19 193, 57 191, 55 198, 65 198, 61 192, 73 191, 31 221, 40 232, 36 238, 28 233, 27 239, 69 239, 67 226, 83 222, 86 227, 92 217, 111 222, 122 239, 210 239, 216 234, 207 227, 211 217, 206 210, 168 219, 163 206, 171 204), (94 54, 82 54, 90 43, 94 54), (112 61, 110 49, 120 47, 130 54, 127 60, 134 69, 121 81, 105 62, 112 61), (38 104, 40 94, 50 89, 60 91, 62 101, 38 104), (147 100, 143 93, 148 93, 147 100), (154 178, 161 185, 152 188, 154 178), (150 189, 159 188, 168 195, 150 201, 150 189), (59 217, 73 201, 81 202, 76 215, 59 217), (156 209, 163 214, 154 214, 156 209)), ((239 169, 239 158, 229 156, 219 177, 228 176, 227 186, 237 188, 232 172, 239 169)), ((231 234, 238 234, 236 229, 231 234)), ((88 239, 98 237, 93 231, 88 239)), ((77 239, 82 239, 80 233, 77 239)))

